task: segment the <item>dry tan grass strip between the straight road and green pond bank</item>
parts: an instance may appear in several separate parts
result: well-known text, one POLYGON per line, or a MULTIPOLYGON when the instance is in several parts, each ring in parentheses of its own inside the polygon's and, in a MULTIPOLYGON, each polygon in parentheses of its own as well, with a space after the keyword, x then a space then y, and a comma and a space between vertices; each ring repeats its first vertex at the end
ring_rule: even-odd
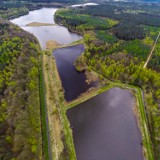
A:
POLYGON ((46 84, 47 114, 50 129, 52 159, 59 160, 63 151, 61 122, 58 112, 59 86, 57 86, 56 82, 56 65, 51 56, 43 56, 43 71, 46 84))

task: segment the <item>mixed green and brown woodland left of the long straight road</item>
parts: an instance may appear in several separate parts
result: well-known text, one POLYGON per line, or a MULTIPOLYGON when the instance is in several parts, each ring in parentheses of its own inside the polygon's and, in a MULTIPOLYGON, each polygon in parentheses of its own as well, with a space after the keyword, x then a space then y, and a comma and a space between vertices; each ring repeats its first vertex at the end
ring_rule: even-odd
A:
POLYGON ((42 159, 38 42, 0 19, 0 159, 42 159))

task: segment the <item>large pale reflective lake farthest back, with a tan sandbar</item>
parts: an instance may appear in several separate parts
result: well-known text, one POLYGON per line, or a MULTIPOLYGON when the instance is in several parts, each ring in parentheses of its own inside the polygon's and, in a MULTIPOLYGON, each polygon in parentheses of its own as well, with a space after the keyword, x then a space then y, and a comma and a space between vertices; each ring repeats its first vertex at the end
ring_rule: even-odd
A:
POLYGON ((46 42, 49 40, 57 41, 59 44, 69 44, 82 38, 82 36, 68 31, 63 26, 26 26, 32 22, 52 23, 57 8, 42 8, 30 11, 29 14, 10 20, 22 29, 33 33, 40 42, 43 49, 46 49, 46 42))

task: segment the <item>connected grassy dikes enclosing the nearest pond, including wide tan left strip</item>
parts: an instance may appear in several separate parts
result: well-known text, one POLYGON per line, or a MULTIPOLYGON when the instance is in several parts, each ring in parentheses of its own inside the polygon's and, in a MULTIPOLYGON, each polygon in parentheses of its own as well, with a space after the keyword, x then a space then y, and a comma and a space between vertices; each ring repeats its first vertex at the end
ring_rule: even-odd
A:
MULTIPOLYGON (((77 43, 72 45, 75 44, 77 43)), ((58 48, 62 47, 63 46, 58 48)), ((92 72, 96 71, 92 68, 92 72)), ((62 89, 61 80, 57 71, 56 62, 51 54, 43 54, 43 74, 46 88, 47 114, 49 119, 48 123, 50 128, 50 141, 53 160, 76 159, 72 130, 66 116, 66 111, 69 108, 83 103, 86 100, 113 87, 129 89, 134 93, 134 96, 136 97, 136 117, 138 119, 138 124, 142 135, 143 153, 146 160, 154 160, 152 143, 147 127, 142 90, 139 87, 127 85, 121 82, 111 82, 103 76, 105 84, 100 85, 98 88, 91 89, 89 92, 82 94, 76 100, 66 102, 64 99, 64 91, 62 89)), ((101 75, 101 73, 98 72, 96 72, 96 74, 101 75)))

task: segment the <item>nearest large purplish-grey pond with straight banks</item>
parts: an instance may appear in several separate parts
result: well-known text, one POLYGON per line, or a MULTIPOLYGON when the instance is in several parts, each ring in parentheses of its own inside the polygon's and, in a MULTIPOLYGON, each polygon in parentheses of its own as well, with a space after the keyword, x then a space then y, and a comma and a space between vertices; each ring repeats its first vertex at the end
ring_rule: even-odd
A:
POLYGON ((113 88, 67 111, 78 160, 143 160, 128 90, 113 88))

